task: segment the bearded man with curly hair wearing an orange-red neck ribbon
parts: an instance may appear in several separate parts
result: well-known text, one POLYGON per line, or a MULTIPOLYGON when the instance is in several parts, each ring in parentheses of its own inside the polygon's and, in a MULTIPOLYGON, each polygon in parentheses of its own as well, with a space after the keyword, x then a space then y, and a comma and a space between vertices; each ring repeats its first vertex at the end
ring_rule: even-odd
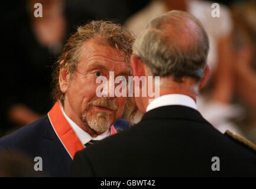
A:
POLYGON ((128 128, 129 122, 120 119, 127 97, 99 97, 96 80, 105 76, 110 85, 111 71, 115 77, 131 76, 133 42, 126 28, 109 21, 77 28, 54 66, 55 105, 44 118, 0 139, 1 148, 40 157, 40 171, 50 176, 68 176, 77 151, 128 128))

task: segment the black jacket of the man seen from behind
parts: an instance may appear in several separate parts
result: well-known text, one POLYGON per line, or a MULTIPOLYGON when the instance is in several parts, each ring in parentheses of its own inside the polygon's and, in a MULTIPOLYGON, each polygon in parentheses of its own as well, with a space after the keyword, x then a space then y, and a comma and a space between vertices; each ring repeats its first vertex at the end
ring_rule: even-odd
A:
POLYGON ((256 157, 197 110, 174 105, 153 109, 138 125, 77 152, 72 172, 82 177, 255 177, 256 157))

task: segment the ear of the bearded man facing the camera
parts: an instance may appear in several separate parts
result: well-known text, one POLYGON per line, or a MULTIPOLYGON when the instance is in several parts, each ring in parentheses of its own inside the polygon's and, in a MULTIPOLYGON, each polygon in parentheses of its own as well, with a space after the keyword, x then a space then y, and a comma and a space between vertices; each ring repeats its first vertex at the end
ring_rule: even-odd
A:
MULTIPOLYGON (((63 60, 61 60, 60 64, 63 64, 63 60)), ((60 90, 64 94, 67 93, 67 88, 69 87, 70 82, 70 72, 66 67, 60 68, 60 75, 59 75, 59 84, 60 90)))

